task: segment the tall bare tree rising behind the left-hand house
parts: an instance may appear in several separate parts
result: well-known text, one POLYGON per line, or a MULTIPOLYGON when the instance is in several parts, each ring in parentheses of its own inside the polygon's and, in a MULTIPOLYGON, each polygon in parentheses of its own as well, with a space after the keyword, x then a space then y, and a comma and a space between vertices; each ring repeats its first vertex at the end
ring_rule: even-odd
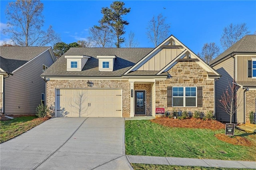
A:
POLYGON ((41 30, 44 25, 43 9, 44 4, 40 0, 9 2, 5 10, 8 22, 4 34, 10 34, 11 40, 20 46, 44 46, 60 41, 51 25, 48 30, 41 30))

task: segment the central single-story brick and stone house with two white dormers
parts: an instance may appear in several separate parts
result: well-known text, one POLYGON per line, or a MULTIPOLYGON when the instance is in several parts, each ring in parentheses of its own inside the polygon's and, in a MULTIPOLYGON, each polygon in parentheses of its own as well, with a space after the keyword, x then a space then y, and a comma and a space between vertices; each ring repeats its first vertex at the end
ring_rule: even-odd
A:
POLYGON ((56 117, 134 117, 214 111, 220 75, 170 36, 156 48, 70 48, 41 77, 56 117))

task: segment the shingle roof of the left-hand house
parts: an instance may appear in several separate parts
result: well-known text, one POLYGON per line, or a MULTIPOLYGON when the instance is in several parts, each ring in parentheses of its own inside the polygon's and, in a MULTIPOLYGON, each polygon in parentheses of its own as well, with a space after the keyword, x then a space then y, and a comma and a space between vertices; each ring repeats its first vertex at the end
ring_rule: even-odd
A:
POLYGON ((0 47, 0 68, 12 73, 49 47, 0 47))

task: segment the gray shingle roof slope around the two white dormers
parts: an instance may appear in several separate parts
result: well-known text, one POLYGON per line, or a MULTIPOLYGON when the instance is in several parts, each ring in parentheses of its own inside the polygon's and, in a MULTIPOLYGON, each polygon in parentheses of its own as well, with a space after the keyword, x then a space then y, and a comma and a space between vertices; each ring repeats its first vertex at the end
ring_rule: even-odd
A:
POLYGON ((64 55, 86 55, 88 59, 82 71, 67 71, 67 62, 62 55, 41 76, 45 77, 105 77, 121 76, 154 48, 70 48, 64 55), (113 71, 99 71, 97 55, 116 55, 113 71))

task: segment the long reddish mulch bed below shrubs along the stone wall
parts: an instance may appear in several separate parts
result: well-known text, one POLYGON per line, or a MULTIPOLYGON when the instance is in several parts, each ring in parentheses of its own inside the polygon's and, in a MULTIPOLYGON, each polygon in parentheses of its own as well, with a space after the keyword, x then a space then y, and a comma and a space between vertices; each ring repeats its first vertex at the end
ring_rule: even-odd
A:
POLYGON ((211 130, 225 129, 225 125, 219 121, 203 121, 202 119, 170 119, 168 117, 158 117, 152 119, 151 122, 158 123, 167 127, 181 127, 181 128, 207 128, 211 130))

